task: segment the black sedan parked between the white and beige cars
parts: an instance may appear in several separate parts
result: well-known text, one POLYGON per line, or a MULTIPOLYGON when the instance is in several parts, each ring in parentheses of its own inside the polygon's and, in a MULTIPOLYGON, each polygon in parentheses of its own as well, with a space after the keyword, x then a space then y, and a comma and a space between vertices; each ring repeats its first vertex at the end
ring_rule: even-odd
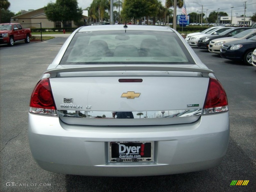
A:
POLYGON ((200 49, 208 49, 208 46, 209 46, 209 43, 211 40, 222 38, 222 37, 232 37, 244 30, 247 30, 247 29, 251 29, 251 27, 231 28, 231 29, 223 31, 222 33, 217 34, 217 35, 207 35, 207 36, 201 37, 198 40, 197 47, 200 49))

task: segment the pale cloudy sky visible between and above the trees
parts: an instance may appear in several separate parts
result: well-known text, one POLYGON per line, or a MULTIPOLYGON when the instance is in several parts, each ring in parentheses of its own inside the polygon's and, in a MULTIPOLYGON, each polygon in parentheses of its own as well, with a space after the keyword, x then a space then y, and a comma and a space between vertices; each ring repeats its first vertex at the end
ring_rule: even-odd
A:
MULTIPOLYGON (((49 2, 56 2, 56 0, 8 0, 10 2, 9 10, 17 13, 20 10, 39 9, 47 5, 49 2)), ((117 0, 114 0, 117 1, 117 0)), ((161 0, 163 5, 165 0, 161 0)), ((228 16, 241 16, 244 14, 244 2, 246 2, 246 16, 252 16, 256 13, 256 1, 255 0, 185 0, 187 14, 191 12, 201 12, 203 5, 203 12, 207 15, 211 11, 216 11, 219 8, 219 12, 226 12, 228 16)), ((90 6, 92 0, 78 0, 78 6, 85 9, 90 6)), ((173 7, 172 7, 173 8, 173 7)), ((181 14, 181 9, 177 9, 177 14, 181 14)))

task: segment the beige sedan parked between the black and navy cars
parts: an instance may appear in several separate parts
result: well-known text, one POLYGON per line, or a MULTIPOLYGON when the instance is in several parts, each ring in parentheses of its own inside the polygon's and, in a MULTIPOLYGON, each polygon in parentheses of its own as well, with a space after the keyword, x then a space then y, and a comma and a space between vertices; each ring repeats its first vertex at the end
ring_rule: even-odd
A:
POLYGON ((256 35, 256 29, 248 29, 245 31, 242 31, 238 33, 237 35, 234 35, 233 37, 223 37, 219 39, 211 40, 209 43, 209 52, 220 54, 221 46, 225 43, 231 42, 231 41, 238 41, 242 39, 249 39, 256 35))

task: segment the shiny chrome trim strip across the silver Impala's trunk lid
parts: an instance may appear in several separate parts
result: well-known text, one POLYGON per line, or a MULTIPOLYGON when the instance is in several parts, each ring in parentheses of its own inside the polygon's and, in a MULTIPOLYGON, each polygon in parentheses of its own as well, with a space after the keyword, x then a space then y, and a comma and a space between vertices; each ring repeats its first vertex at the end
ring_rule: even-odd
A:
POLYGON ((77 111, 77 110, 57 110, 60 117, 70 118, 91 118, 91 119, 144 119, 144 118, 176 118, 191 117, 202 114, 202 109, 189 110, 168 110, 168 111, 77 111))

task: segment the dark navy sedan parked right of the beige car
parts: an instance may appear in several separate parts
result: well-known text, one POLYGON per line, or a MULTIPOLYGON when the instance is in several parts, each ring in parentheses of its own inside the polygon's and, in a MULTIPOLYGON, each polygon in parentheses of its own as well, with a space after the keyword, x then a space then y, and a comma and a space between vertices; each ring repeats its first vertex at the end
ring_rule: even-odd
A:
POLYGON ((252 65, 252 53, 256 48, 256 36, 250 39, 232 41, 223 44, 220 50, 222 58, 243 61, 246 65, 252 65))

